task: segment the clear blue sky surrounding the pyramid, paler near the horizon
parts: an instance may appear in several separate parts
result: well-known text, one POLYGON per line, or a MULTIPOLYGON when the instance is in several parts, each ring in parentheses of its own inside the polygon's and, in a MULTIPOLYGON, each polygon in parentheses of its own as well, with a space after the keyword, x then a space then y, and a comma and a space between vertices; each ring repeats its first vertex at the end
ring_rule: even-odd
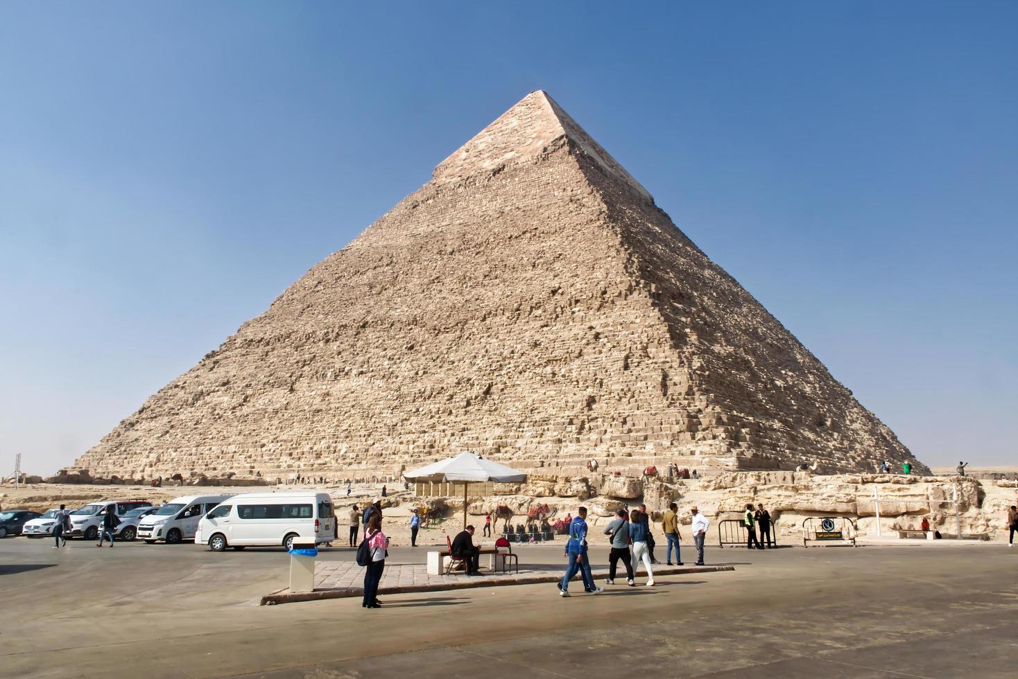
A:
POLYGON ((931 464, 1018 464, 1018 3, 0 4, 0 473, 548 90, 931 464))

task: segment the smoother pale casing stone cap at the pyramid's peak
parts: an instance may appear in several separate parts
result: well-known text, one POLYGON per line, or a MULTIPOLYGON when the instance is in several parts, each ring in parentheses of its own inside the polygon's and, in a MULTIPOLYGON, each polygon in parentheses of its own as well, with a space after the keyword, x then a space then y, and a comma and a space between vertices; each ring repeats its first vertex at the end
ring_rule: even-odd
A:
POLYGON ((654 200, 651 193, 544 89, 534 89, 516 102, 439 164, 432 178, 438 183, 447 183, 491 172, 500 166, 533 158, 563 136, 644 198, 654 200))

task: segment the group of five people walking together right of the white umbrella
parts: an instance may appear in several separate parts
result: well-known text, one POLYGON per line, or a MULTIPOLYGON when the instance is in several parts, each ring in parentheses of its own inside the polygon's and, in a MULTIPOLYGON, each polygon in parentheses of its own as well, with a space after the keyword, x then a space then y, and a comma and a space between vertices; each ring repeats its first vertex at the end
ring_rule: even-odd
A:
MULTIPOLYGON (((675 552, 675 564, 683 565, 679 553, 681 535, 679 533, 678 505, 671 503, 668 511, 662 517, 662 530, 668 540, 666 551, 667 565, 672 565, 672 552, 675 552)), ((690 507, 692 514, 692 537, 696 546, 696 565, 703 565, 703 541, 706 537, 706 530, 711 523, 696 507, 690 507)), ((586 507, 580 507, 576 516, 569 522, 569 539, 566 542, 564 556, 567 559, 566 572, 558 583, 559 595, 569 597, 569 580, 576 573, 580 574, 583 580, 583 591, 589 594, 604 592, 604 588, 599 588, 593 581, 593 574, 590 570, 590 559, 587 553, 587 524, 586 507)), ((615 576, 618 572, 618 563, 626 569, 626 582, 629 587, 635 587, 635 570, 633 561, 636 564, 643 563, 646 570, 646 585, 654 585, 654 563, 660 563, 654 558, 654 534, 651 530, 651 514, 646 511, 646 505, 640 505, 638 509, 627 511, 619 508, 615 512, 615 518, 605 528, 604 534, 609 536, 612 549, 608 556, 608 578, 606 584, 615 584, 615 576)))

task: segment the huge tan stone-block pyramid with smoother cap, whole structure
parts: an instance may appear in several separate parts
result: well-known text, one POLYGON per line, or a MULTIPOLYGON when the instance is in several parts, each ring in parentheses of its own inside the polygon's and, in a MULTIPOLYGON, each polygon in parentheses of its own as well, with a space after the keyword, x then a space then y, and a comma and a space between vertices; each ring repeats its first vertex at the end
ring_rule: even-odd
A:
POLYGON ((547 94, 307 271, 76 465, 928 473, 547 94))

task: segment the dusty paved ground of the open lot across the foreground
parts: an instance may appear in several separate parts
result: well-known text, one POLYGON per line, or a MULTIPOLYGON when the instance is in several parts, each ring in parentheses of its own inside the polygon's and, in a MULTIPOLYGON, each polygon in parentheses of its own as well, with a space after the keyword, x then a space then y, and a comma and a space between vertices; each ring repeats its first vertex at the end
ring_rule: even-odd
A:
MULTIPOLYGON (((534 561, 561 547, 532 547, 534 561)), ((607 550, 593 549, 603 560, 607 550)), ((687 562, 689 554, 684 555, 687 562)), ((351 559, 352 550, 323 552, 351 559)), ((422 560, 394 549, 393 562, 422 560)), ((287 555, 0 541, 7 677, 1013 677, 1018 548, 709 548, 730 572, 260 607, 287 555)))

